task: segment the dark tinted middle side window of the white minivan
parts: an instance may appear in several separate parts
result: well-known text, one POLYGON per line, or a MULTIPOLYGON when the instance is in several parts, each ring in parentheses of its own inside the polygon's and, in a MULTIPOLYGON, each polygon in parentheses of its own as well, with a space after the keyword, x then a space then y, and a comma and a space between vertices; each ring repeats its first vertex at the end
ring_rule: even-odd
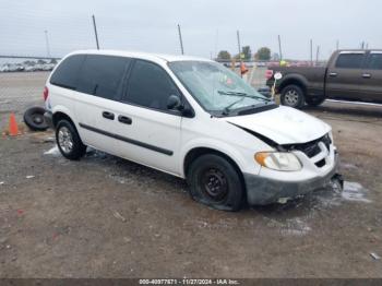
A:
POLYGON ((116 99, 122 88, 122 78, 129 58, 87 55, 82 67, 77 92, 116 99))

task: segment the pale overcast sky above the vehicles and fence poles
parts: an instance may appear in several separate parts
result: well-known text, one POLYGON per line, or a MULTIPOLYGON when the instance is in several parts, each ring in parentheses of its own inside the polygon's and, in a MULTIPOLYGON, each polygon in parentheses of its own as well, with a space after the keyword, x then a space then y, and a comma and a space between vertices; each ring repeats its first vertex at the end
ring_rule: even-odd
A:
POLYGON ((210 58, 270 47, 284 58, 325 60, 336 48, 382 48, 381 0, 0 0, 0 55, 62 57, 95 48, 92 14, 103 49, 184 53, 210 58), (45 33, 46 31, 46 33, 45 33), (46 43, 48 38, 48 47, 46 43))

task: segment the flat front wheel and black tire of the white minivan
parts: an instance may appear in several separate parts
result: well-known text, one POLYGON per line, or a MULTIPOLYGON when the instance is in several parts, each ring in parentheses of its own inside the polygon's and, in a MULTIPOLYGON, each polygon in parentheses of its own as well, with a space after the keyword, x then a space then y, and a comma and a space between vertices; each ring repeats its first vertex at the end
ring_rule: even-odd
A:
POLYGON ((203 204, 222 211, 239 211, 244 188, 236 168, 224 157, 206 154, 192 162, 188 171, 189 192, 203 204))

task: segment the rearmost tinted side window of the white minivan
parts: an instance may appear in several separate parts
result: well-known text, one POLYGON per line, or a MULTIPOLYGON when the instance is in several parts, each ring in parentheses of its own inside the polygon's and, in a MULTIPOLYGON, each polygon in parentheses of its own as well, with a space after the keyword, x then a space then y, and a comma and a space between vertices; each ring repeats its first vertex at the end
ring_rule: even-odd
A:
POLYGON ((61 87, 75 90, 79 72, 84 59, 84 55, 74 55, 64 59, 51 75, 50 83, 61 87))

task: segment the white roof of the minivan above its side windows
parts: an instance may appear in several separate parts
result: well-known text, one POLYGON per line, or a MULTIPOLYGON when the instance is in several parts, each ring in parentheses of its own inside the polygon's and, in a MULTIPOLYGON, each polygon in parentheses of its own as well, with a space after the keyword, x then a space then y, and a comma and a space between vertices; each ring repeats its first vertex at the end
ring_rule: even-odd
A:
POLYGON ((191 56, 179 56, 179 55, 163 55, 163 53, 151 53, 151 52, 141 52, 141 51, 126 51, 126 50, 107 50, 107 49, 88 49, 88 50, 77 50, 73 51, 70 55, 75 53, 86 53, 86 55, 107 55, 107 56, 120 56, 120 57, 129 57, 136 59, 146 59, 154 61, 211 61, 205 58, 191 57, 191 56))

